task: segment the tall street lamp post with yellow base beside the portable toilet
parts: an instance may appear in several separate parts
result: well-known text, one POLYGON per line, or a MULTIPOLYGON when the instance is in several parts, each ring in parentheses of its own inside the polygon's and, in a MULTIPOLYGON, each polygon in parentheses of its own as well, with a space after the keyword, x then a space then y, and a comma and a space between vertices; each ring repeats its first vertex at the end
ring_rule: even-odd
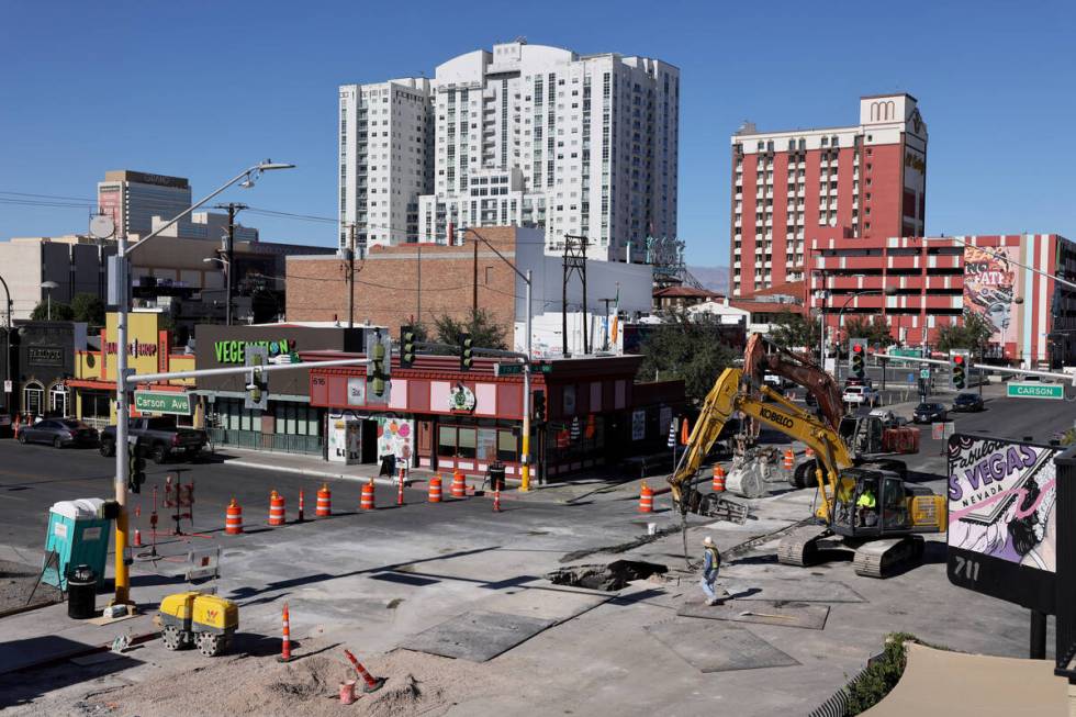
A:
MULTIPOLYGON (((171 220, 160 225, 138 243, 131 247, 135 250, 145 245, 165 229, 171 227, 181 219, 205 204, 217 194, 222 193, 233 184, 239 183, 244 189, 254 187, 255 180, 262 172, 272 169, 291 169, 294 165, 273 163, 265 160, 244 169, 227 182, 215 189, 212 193, 198 202, 191 204, 186 210, 173 216, 171 220), (240 181, 242 180, 242 181, 240 181)), ((120 504, 119 515, 115 526, 115 595, 113 604, 125 605, 131 603, 131 579, 127 565, 131 564, 130 548, 127 547, 127 314, 131 311, 131 276, 127 269, 127 236, 121 232, 116 237, 116 284, 117 284, 117 305, 116 305, 116 422, 115 422, 115 497, 120 504)), ((103 350, 104 347, 102 347, 103 350)))

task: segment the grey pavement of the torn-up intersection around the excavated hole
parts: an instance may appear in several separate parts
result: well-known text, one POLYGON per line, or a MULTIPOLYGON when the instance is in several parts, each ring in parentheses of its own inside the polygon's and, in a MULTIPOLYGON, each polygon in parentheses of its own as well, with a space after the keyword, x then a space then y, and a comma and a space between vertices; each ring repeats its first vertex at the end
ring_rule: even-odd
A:
MULTIPOLYGON (((982 414, 959 415, 957 429, 996 428, 999 416, 1018 434, 1025 428, 1045 434, 1065 421, 1071 425, 1072 406, 1054 403, 1062 402, 991 399, 982 414)), ((924 432, 923 452, 909 461, 909 468, 939 490, 944 483, 944 459, 933 455, 932 447, 940 444, 924 432)), ((0 495, 4 496, 0 530, 14 536, 21 554, 32 557, 40 550, 44 523, 16 530, 11 525, 19 522, 15 516, 36 520, 42 506, 47 508, 57 496, 107 492, 111 485, 107 466, 96 455, 0 442, 0 495)), ((798 665, 704 673, 652 637, 647 628, 655 625, 716 623, 676 616, 685 603, 700 598, 697 576, 686 569, 685 542, 687 557, 696 561, 703 535, 713 535, 725 550, 758 540, 808 515, 815 497, 810 490, 751 502, 753 518, 744 525, 693 517, 681 534, 680 516, 671 511, 668 496, 655 501, 657 513, 638 514, 637 481, 550 488, 506 501, 505 512, 493 514, 486 500, 429 505, 422 492, 411 490, 408 505, 402 508, 359 513, 358 486, 340 480, 332 486, 341 515, 269 529, 265 506, 259 504, 266 502, 268 483, 287 492, 289 518, 293 518, 298 488, 307 489, 311 514, 310 486, 320 479, 281 472, 267 480, 264 469, 227 463, 192 468, 198 507, 188 531, 209 537, 162 541, 165 559, 136 565, 135 597, 152 607, 159 595, 179 584, 171 575, 189 546, 221 545, 224 575, 218 587, 242 604, 243 645, 248 646, 244 650, 253 656, 250 660, 270 660, 268 656, 278 649, 284 601, 291 606, 292 634, 300 643, 330 639, 361 646, 374 664, 384 656, 406 658, 408 653, 396 648, 466 613, 492 610, 556 621, 482 665, 483 674, 506 685, 501 694, 453 693, 456 705, 444 705, 447 714, 500 715, 523 704, 535 714, 711 715, 722 708, 738 715, 803 714, 861 669, 879 650, 887 631, 907 630, 933 643, 991 654, 1021 656, 1027 649, 1025 612, 951 586, 942 562, 943 545, 938 541, 931 544, 924 565, 886 581, 860 578, 843 562, 808 570, 776 564, 776 539, 763 539, 733 557, 724 576, 730 584, 787 584, 789 590, 806 592, 818 584, 840 584, 861 598, 826 603, 830 612, 822 630, 747 626, 798 665), (248 534, 234 538, 221 535, 223 505, 232 494, 247 506, 250 526, 248 534), (625 549, 647 533, 648 523, 673 531, 625 549), (576 551, 589 554, 568 559, 576 551), (670 572, 663 581, 641 581, 616 594, 565 589, 543 578, 564 564, 617 559, 661 563, 670 572)), ((153 470, 152 480, 159 481, 162 472, 153 470)), ((379 505, 394 502, 391 489, 379 485, 377 493, 379 505)), ((99 600, 103 602, 103 596, 99 600)), ((72 628, 65 624, 63 607, 51 609, 40 629, 74 635, 68 632, 72 628)), ((0 623, 5 635, 8 626, 16 625, 8 619, 0 623)), ((30 629, 15 631, 23 635, 30 629)), ((702 627, 698 634, 704 634, 702 627)), ((107 634, 100 641, 110 639, 107 634)), ((87 699, 88 692, 114 687, 101 699, 122 701, 130 684, 153 684, 177 671, 202 668, 210 671, 203 673, 209 680, 214 664, 225 663, 206 664, 197 653, 167 653, 154 642, 132 653, 122 669, 68 664, 63 677, 47 670, 41 675, 2 676, 0 694, 25 703, 13 714, 65 713, 87 699), (79 675, 99 682, 85 684, 79 675), (57 682, 42 683, 49 677, 57 682)), ((197 707, 187 710, 201 714, 197 707)))

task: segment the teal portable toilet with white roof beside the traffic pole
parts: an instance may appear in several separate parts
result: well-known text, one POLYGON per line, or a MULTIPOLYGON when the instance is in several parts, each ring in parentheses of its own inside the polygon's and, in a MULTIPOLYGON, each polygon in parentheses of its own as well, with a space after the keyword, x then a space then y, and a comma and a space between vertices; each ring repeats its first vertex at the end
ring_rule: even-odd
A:
POLYGON ((112 522, 103 517, 103 505, 101 498, 87 497, 60 501, 48 509, 42 582, 66 591, 68 567, 83 564, 93 569, 98 585, 104 582, 112 522))

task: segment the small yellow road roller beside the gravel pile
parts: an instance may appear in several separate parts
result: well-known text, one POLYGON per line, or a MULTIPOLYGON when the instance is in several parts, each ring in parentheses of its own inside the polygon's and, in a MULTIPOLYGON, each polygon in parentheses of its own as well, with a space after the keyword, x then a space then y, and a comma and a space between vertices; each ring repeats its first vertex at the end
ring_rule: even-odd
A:
POLYGON ((223 652, 239 627, 239 606, 199 591, 168 595, 155 618, 169 650, 198 646, 206 657, 223 652))

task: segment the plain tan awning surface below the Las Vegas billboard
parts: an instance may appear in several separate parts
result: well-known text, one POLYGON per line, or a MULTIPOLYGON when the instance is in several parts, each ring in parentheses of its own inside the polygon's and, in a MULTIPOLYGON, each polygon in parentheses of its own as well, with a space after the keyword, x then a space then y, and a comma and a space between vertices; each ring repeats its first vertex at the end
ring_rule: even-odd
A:
POLYGON ((907 642, 900 682, 865 717, 1035 715, 1067 717, 1068 682, 1052 660, 934 650, 907 642))

